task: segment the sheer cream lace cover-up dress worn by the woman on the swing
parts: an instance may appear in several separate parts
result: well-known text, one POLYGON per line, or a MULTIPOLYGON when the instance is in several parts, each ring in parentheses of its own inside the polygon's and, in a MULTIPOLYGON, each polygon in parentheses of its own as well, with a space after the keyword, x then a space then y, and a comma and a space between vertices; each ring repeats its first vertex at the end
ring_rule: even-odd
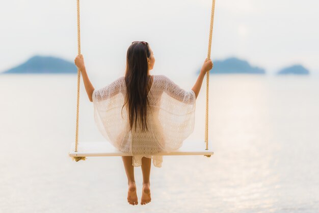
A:
POLYGON ((162 167, 163 156, 182 146, 195 125, 196 97, 193 90, 184 90, 164 75, 154 75, 148 92, 147 128, 142 132, 140 121, 129 129, 124 104, 124 76, 93 91, 94 119, 102 135, 118 150, 133 156, 132 165, 139 167, 142 157, 152 158, 155 167, 162 167), (122 108, 123 107, 123 108, 122 108))

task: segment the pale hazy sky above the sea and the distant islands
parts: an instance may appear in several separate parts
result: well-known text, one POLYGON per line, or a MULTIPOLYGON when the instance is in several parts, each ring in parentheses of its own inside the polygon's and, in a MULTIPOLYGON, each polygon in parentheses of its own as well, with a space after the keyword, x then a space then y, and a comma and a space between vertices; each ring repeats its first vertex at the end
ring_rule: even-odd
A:
MULTIPOLYGON (((92 75, 124 74, 132 41, 149 42, 155 74, 192 74, 207 56, 210 0, 80 1, 81 52, 92 75)), ((296 63, 319 73, 319 2, 216 0, 211 59, 238 57, 268 73, 296 63)), ((34 55, 73 62, 76 1, 3 1, 0 72, 34 55)))

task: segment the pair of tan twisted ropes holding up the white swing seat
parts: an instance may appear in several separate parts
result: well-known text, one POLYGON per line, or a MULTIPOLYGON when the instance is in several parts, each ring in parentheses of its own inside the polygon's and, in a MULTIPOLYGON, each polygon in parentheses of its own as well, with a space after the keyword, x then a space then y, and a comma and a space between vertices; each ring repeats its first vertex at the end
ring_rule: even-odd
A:
MULTIPOLYGON (((81 39, 80 39, 80 21, 79 21, 79 0, 76 0, 77 6, 77 55, 81 55, 81 39)), ((208 53, 207 59, 210 58, 211 51, 211 38, 212 38, 212 28, 214 24, 214 13, 215 13, 215 0, 212 0, 211 4, 211 14, 210 14, 210 30, 209 30, 209 39, 208 39, 208 53)), ((77 69, 77 96, 76 96, 76 125, 75 125, 75 147, 74 152, 77 152, 78 144, 78 111, 79 111, 79 89, 80 89, 80 77, 81 71, 77 69)), ((206 113, 205 113, 205 144, 206 150, 208 150, 208 94, 209 94, 209 71, 206 73, 206 113)), ((210 157, 211 155, 205 155, 210 157)), ((72 157, 73 160, 85 160, 86 157, 72 157)))

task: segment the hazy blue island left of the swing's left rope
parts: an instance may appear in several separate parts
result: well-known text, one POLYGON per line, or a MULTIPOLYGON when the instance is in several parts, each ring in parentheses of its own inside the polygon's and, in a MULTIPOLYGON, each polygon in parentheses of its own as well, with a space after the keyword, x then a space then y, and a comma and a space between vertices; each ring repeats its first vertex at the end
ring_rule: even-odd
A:
POLYGON ((77 73, 74 63, 51 56, 34 56, 26 62, 6 70, 3 74, 62 74, 77 73))

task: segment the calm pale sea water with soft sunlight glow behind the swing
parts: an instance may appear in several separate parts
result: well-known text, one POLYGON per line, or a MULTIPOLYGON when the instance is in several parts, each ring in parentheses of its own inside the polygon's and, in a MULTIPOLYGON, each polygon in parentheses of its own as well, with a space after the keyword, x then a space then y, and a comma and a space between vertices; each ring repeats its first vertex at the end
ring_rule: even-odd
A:
MULTIPOLYGON (((0 76, 0 212, 319 212, 318 78, 211 76, 215 154, 164 156, 143 206, 127 204, 120 157, 68 157, 75 89, 76 76, 0 76)), ((103 140, 81 89, 79 140, 103 140)), ((205 79, 190 140, 204 140, 204 109, 205 79)))

